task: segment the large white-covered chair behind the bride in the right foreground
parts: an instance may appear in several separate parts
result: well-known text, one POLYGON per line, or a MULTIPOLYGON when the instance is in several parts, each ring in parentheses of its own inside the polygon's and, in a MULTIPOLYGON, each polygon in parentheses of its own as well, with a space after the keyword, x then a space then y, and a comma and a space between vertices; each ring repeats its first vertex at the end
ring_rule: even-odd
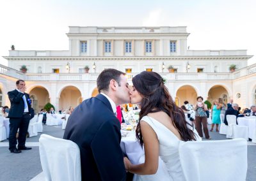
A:
POLYGON ((186 141, 180 144, 179 155, 186 181, 246 179, 247 141, 243 138, 186 141))

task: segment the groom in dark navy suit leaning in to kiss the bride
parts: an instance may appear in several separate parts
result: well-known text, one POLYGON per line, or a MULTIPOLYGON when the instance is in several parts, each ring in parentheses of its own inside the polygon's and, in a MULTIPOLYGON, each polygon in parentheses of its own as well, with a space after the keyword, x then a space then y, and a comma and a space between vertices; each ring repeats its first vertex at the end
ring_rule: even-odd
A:
POLYGON ((84 100, 70 115, 63 138, 80 148, 82 180, 125 180, 116 118, 116 106, 130 101, 125 73, 105 69, 97 78, 97 88, 100 94, 84 100))

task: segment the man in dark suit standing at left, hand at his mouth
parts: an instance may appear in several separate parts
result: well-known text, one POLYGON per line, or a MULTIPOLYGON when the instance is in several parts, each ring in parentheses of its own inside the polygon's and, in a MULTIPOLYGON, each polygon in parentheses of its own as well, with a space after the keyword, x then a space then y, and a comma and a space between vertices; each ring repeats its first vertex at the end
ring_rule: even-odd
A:
POLYGON ((25 93, 26 84, 24 80, 17 80, 17 89, 8 92, 11 107, 8 114, 10 118, 9 150, 12 153, 20 153, 21 150, 30 150, 25 146, 26 134, 28 132, 29 120, 31 119, 32 109, 29 94, 25 93), (19 129, 18 148, 16 133, 19 129))

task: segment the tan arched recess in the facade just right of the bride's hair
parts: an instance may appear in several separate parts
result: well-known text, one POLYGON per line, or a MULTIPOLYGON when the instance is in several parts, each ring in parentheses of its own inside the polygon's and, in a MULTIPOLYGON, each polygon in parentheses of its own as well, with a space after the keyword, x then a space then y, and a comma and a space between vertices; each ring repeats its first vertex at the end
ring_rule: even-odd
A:
POLYGON ((198 89, 193 85, 183 84, 175 91, 175 103, 178 106, 184 105, 184 101, 189 101, 190 104, 196 103, 196 97, 198 96, 198 89))

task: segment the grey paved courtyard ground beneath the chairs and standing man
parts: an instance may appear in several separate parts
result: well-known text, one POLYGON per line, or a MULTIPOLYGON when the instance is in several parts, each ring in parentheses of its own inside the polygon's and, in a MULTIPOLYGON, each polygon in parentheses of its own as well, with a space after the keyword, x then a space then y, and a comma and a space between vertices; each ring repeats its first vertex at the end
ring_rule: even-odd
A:
MULTIPOLYGON (((63 133, 64 131, 61 129, 61 126, 44 126, 44 134, 62 138, 63 133)), ((215 131, 210 132, 210 136, 212 140, 226 140, 225 135, 221 135, 215 131)), ((0 180, 42 180, 42 167, 38 149, 39 138, 40 134, 28 138, 26 146, 32 147, 32 150, 24 150, 21 154, 11 154, 9 152, 8 140, 0 142, 0 180)), ((246 181, 256 180, 255 153, 256 144, 248 141, 248 171, 246 181)))

